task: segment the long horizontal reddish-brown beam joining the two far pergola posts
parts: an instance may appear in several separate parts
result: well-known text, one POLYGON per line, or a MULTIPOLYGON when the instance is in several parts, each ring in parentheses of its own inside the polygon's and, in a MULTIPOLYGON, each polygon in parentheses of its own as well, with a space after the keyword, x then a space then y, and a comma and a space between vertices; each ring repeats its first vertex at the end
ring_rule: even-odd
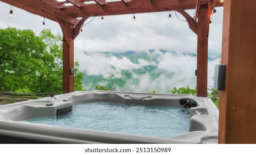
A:
MULTIPOLYGON (((217 3, 219 4, 219 3, 217 3)), ((222 4, 222 3, 221 3, 222 4)), ((217 6, 221 6, 221 4, 217 6)), ((196 7, 196 0, 159 0, 154 1, 130 1, 128 4, 123 1, 109 2, 104 7, 99 7, 99 4, 89 4, 78 9, 70 6, 66 10, 67 13, 73 13, 75 17, 83 17, 84 14, 95 16, 112 16, 117 14, 134 14, 134 13, 150 13, 150 12, 164 12, 175 10, 175 8, 194 9, 196 7)))

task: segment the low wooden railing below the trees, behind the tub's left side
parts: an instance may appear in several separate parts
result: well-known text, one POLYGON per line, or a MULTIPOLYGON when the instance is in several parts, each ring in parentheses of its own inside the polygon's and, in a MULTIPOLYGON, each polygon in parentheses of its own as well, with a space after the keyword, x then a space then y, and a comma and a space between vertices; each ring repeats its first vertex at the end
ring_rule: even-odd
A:
POLYGON ((54 96, 53 93, 17 93, 0 91, 0 105, 54 96))

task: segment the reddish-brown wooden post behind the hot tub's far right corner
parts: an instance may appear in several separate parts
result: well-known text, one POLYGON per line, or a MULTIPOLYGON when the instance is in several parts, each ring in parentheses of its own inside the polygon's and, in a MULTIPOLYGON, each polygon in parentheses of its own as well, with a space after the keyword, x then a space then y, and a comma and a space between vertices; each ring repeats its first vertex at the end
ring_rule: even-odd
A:
POLYGON ((207 97, 208 32, 208 4, 202 4, 197 25, 197 96, 200 97, 207 97))

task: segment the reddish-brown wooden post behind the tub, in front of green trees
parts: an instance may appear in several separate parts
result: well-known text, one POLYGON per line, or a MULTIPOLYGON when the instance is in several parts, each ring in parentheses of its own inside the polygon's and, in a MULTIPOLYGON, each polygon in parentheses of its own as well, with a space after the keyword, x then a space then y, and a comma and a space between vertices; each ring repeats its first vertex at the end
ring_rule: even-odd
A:
POLYGON ((58 20, 63 32, 63 93, 74 91, 74 25, 58 20))

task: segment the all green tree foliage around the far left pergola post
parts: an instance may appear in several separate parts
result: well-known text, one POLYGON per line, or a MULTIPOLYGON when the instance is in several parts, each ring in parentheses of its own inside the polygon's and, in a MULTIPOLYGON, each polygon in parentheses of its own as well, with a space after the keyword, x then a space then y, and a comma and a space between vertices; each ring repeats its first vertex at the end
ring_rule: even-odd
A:
MULTIPOLYGON (((76 63, 76 66, 79 64, 76 63)), ((44 29, 0 29, 0 91, 62 93, 62 37, 44 29)), ((82 90, 75 69, 75 90, 82 90)), ((80 81, 79 81, 80 80, 80 81)))

